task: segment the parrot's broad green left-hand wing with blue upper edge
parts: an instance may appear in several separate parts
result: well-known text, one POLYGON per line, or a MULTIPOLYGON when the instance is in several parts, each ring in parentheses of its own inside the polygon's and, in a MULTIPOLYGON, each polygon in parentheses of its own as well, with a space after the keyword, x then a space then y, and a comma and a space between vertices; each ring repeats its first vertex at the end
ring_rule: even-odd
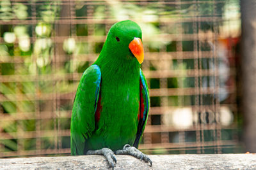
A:
POLYGON ((84 155, 84 143, 95 129, 95 111, 99 99, 100 67, 92 65, 84 71, 77 87, 71 118, 71 154, 84 155))

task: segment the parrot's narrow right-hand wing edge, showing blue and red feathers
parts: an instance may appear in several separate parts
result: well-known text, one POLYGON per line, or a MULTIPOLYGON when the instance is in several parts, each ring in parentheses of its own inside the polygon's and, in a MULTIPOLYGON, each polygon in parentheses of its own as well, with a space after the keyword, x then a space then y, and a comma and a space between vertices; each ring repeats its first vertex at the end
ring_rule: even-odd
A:
POLYGON ((137 133, 136 133, 136 138, 133 143, 133 146, 136 148, 138 148, 141 135, 143 134, 143 131, 147 123, 148 110, 149 110, 148 85, 147 85, 145 76, 140 69, 140 117, 139 117, 139 124, 138 124, 137 133))

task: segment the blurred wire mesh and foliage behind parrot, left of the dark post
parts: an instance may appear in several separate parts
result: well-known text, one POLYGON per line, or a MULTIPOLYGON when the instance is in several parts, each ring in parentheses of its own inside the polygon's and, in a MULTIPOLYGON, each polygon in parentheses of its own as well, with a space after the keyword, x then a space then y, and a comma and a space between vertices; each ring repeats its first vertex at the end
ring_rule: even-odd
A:
POLYGON ((83 71, 108 30, 133 20, 150 113, 148 154, 244 153, 239 0, 0 2, 0 157, 70 154, 83 71))

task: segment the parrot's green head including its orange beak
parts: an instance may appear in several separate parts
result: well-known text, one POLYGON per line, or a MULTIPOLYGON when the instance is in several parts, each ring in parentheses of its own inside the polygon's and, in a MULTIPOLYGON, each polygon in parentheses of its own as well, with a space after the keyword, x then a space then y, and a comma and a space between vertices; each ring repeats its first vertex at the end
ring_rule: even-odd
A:
POLYGON ((144 60, 144 49, 140 26, 131 20, 117 22, 109 29, 103 48, 107 48, 108 53, 113 54, 111 57, 118 60, 141 64, 144 60))

